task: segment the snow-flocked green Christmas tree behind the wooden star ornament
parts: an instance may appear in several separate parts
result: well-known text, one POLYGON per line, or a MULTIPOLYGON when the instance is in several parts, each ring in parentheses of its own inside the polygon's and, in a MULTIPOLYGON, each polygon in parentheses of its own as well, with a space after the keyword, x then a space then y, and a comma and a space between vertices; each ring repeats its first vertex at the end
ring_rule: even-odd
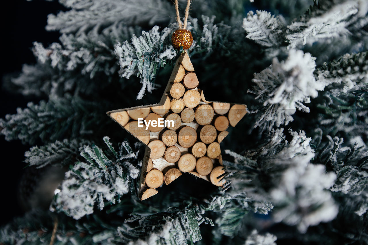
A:
POLYGON ((159 102, 173 2, 59 2, 59 42, 3 81, 38 98, 0 119, 38 181, 0 244, 368 244, 368 1, 193 0, 206 99, 248 113, 224 139, 226 188, 183 174, 144 201, 145 147, 106 111, 159 102))

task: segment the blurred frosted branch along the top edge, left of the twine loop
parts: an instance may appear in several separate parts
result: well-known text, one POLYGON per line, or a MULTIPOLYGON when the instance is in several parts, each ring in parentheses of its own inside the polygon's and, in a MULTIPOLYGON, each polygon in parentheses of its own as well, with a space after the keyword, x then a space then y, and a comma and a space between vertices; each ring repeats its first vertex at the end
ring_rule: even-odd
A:
POLYGON ((161 0, 63 0, 61 4, 71 10, 57 15, 50 14, 46 30, 79 35, 94 26, 108 26, 118 22, 127 26, 152 26, 168 21, 170 13, 174 13, 171 4, 161 0))

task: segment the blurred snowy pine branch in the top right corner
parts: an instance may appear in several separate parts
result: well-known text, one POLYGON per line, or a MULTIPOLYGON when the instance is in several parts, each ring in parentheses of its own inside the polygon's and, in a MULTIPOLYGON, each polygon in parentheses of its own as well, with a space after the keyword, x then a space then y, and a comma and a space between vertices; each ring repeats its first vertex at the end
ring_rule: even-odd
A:
MULTIPOLYGON (((359 0, 321 0, 314 2, 306 14, 287 26, 288 48, 323 42, 323 40, 346 39, 367 36, 364 26, 368 25, 366 3, 359 0)), ((362 43, 362 42, 361 42, 362 43)), ((340 45, 342 46, 342 45, 340 45)))

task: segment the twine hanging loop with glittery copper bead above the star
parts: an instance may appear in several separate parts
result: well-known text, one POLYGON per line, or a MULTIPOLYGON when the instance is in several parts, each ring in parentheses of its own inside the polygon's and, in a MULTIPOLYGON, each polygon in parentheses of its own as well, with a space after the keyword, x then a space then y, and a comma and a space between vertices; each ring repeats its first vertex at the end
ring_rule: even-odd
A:
POLYGON ((179 29, 174 31, 173 35, 171 36, 171 43, 174 49, 180 50, 180 48, 183 47, 183 49, 186 50, 189 49, 193 43, 192 33, 186 30, 190 3, 191 0, 187 0, 187 7, 185 8, 184 24, 182 25, 179 14, 178 0, 175 0, 176 21, 178 22, 179 29))

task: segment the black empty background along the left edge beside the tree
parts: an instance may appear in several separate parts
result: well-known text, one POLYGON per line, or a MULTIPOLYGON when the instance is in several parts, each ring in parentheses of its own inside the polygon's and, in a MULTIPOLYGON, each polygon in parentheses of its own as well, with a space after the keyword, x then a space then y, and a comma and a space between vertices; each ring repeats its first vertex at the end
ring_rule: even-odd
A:
MULTIPOLYGON (((12 0, 7 1, 7 7, 1 8, 1 91, 0 91, 0 118, 6 114, 16 113, 17 107, 24 108, 29 101, 35 98, 11 94, 3 88, 3 77, 12 74, 16 77, 22 69, 22 64, 36 62, 32 53, 32 43, 37 41, 44 45, 57 42, 58 32, 47 32, 47 15, 57 14, 66 10, 57 1, 45 0, 12 0)), ((7 142, 0 135, 1 156, 1 210, 0 226, 8 223, 15 216, 24 212, 18 200, 18 185, 24 173, 24 152, 30 148, 20 141, 7 142)))

